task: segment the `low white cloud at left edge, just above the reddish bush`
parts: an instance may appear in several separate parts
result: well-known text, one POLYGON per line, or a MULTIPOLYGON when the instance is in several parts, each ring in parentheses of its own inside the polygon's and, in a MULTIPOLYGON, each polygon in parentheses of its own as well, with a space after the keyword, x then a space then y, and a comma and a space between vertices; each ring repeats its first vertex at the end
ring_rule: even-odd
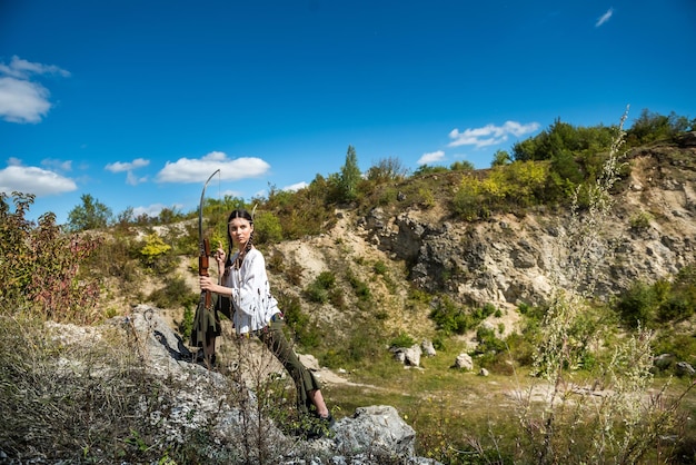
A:
POLYGON ((0 170, 0 191, 6 194, 18 191, 47 197, 77 188, 72 179, 42 168, 10 165, 0 170))

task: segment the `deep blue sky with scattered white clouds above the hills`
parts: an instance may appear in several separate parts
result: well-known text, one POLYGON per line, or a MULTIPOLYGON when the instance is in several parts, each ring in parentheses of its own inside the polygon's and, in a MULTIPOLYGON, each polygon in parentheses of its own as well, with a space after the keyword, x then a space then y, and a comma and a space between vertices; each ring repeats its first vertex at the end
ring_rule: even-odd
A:
POLYGON ((0 191, 192 211, 548 128, 696 118, 696 2, 0 0, 0 191))

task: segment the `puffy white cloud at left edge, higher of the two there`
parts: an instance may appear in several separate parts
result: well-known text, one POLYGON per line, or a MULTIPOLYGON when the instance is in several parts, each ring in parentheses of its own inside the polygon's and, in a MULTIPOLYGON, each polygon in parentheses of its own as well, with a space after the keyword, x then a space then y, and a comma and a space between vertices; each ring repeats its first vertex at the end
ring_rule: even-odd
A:
POLYGON ((10 65, 0 62, 0 118, 9 122, 39 122, 51 109, 50 92, 33 80, 37 75, 59 75, 70 72, 41 63, 32 63, 12 57, 10 65))

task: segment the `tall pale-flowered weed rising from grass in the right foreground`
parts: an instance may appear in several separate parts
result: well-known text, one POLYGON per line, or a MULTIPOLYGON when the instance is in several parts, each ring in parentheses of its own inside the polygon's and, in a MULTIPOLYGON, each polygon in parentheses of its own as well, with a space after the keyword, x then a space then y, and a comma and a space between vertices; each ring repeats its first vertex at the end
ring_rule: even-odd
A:
POLYGON ((590 309, 596 285, 591 271, 609 254, 601 231, 622 168, 625 119, 597 181, 576 190, 568 224, 559 228, 553 294, 533 355, 537 383, 517 397, 523 433, 517 456, 524 463, 633 464, 677 431, 679 399, 669 399, 666 386, 650 393, 650 332, 638 328, 605 348, 610 356, 598 363, 594 376, 578 373, 588 348, 603 347, 608 337, 601 330, 583 335, 585 325, 578 321, 590 309), (534 389, 546 393, 540 404, 531 400, 534 389))

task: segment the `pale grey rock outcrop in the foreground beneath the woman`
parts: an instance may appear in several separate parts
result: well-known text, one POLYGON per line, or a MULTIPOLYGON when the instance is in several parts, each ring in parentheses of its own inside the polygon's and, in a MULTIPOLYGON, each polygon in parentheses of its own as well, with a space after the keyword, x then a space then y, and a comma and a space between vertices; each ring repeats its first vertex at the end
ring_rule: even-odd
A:
MULTIPOLYGON (((86 328, 74 325, 50 326, 51 334, 66 345, 106 345, 108 338, 101 337, 101 333, 113 328, 135 339, 141 357, 140 368, 160 379, 161 386, 176 385, 160 393, 161 408, 141 413, 149 415, 153 428, 151 433, 161 436, 162 444, 182 442, 195 431, 206 431, 211 436, 208 453, 218 458, 228 456, 233 463, 233 457, 245 454, 241 449, 242 435, 262 431, 264 453, 276 456, 272 463, 277 464, 379 464, 385 461, 405 465, 436 464, 415 455, 416 433, 390 406, 359 407, 354 415, 337 421, 330 434, 322 438, 310 441, 286 436, 279 425, 257 416, 253 407, 256 397, 251 389, 191 363, 192 354, 186 342, 171 329, 158 308, 139 305, 128 317, 117 317, 101 327, 90 327, 87 333, 86 328), (248 405, 245 412, 238 407, 239 397, 236 396, 240 392, 247 393, 242 402, 248 405), (235 398, 238 402, 232 402, 235 398), (262 422, 261 427, 253 426, 258 422, 262 422)), ((67 352, 66 356, 69 355, 70 352, 67 352)), ((78 362, 62 360, 66 366, 74 363, 78 362)))

